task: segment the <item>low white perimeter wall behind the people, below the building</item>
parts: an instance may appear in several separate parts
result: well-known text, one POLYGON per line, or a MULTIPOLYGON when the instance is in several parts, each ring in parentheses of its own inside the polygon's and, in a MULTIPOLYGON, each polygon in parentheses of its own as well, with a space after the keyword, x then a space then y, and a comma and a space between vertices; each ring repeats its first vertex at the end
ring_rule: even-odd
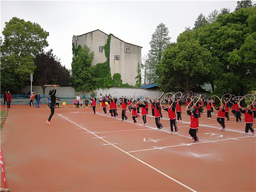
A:
MULTIPOLYGON (((49 90, 54 89, 54 87, 46 87, 45 88, 45 95, 48 95, 49 90)), ((40 95, 43 95, 43 89, 41 86, 32 86, 32 90, 34 91, 34 94, 39 92, 40 95)), ((21 92, 28 93, 30 91, 30 85, 26 85, 25 88, 22 89, 21 92)), ((155 97, 159 93, 158 91, 154 90, 146 90, 143 88, 125 88, 125 87, 111 87, 109 89, 97 89, 95 90, 97 93, 97 96, 99 96, 100 93, 102 93, 103 96, 105 94, 108 95, 108 93, 112 94, 114 92, 119 92, 119 96, 134 96, 135 92, 139 93, 139 96, 143 96, 145 94, 148 94, 149 97, 155 97)), ((57 87, 56 95, 77 95, 80 96, 83 95, 82 92, 75 92, 75 89, 73 87, 57 87)), ((84 92, 84 95, 89 95, 89 92, 84 92)))

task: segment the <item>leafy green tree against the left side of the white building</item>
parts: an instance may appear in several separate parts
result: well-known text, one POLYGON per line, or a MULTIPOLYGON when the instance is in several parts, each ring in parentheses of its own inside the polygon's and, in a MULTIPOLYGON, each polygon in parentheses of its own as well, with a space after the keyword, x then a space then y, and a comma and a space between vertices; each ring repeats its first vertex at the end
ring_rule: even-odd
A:
POLYGON ((90 48, 85 45, 82 47, 77 56, 73 57, 71 64, 72 75, 71 84, 76 92, 89 92, 96 88, 96 79, 93 77, 95 71, 91 66, 94 58, 94 52, 90 52, 90 48))

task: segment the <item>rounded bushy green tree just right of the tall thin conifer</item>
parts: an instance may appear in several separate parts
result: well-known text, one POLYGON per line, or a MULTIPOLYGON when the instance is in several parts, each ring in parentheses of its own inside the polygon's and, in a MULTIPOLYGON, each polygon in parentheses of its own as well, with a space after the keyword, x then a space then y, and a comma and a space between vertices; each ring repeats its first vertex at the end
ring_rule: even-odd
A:
POLYGON ((170 44, 158 66, 158 86, 163 91, 178 88, 188 93, 195 86, 205 83, 212 69, 210 60, 210 52, 202 48, 197 40, 170 44))

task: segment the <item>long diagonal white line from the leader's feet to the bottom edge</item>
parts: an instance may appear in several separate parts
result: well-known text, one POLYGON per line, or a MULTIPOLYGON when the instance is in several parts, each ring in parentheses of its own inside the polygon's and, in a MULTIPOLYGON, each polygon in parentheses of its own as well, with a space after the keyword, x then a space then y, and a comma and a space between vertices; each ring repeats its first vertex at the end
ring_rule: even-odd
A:
MULTIPOLYGON (((58 113, 57 113, 57 114, 58 114, 58 113)), ((58 115, 59 115, 59 114, 58 114, 58 115)), ((70 121, 69 119, 67 119, 67 118, 64 117, 64 116, 61 116, 61 117, 63 117, 64 119, 68 120, 69 122, 72 122, 72 121, 70 121)), ((75 124, 75 125, 77 125, 77 126, 79 126, 79 127, 81 127, 80 125, 78 125, 78 124, 76 124, 76 123, 74 123, 74 122, 72 122, 72 123, 75 124)), ((83 128, 83 127, 81 127, 81 128, 84 129, 85 131, 88 131, 87 129, 85 129, 85 128, 83 128)), ((90 131, 88 131, 88 132, 90 132, 90 131)), ((108 142, 107 140, 105 140, 105 139, 99 137, 98 135, 94 134, 93 132, 90 132, 90 133, 93 134, 94 136, 98 137, 99 139, 105 141, 105 142, 108 143, 109 145, 111 145, 111 146, 113 146, 113 147, 119 149, 120 151, 124 152, 125 154, 129 155, 130 157, 134 158, 135 160, 138 160, 138 161, 140 161, 141 163, 143 163, 144 165, 150 167, 151 169, 154 169, 154 170, 157 171, 158 173, 160 173, 160 174, 166 176, 167 178, 169 178, 169 179, 175 181, 176 183, 180 184, 181 186, 185 187, 186 189, 189 189, 189 190, 192 191, 192 192, 196 192, 194 189, 190 188, 189 186, 186 186, 185 184, 181 183, 180 181, 178 181, 178 180, 176 180, 176 179, 170 177, 169 175, 166 175, 165 173, 161 172, 160 170, 154 168, 153 166, 149 165, 148 163, 145 163, 143 160, 140 160, 140 159, 138 159, 137 157, 135 157, 135 156, 129 154, 128 152, 126 152, 126 151, 122 150, 121 148, 117 147, 116 145, 111 144, 110 142, 108 142)))

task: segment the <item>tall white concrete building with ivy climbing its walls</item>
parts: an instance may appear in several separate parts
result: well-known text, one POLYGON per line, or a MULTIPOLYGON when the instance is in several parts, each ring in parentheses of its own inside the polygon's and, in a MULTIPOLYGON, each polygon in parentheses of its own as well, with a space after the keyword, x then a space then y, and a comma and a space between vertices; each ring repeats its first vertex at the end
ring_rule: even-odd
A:
MULTIPOLYGON (((107 43, 107 39, 108 34, 99 29, 83 35, 73 35, 73 43, 76 48, 79 44, 81 47, 87 45, 94 52, 93 65, 107 61, 103 49, 103 46, 107 43)), ((114 73, 120 73, 123 84, 135 85, 138 62, 141 64, 141 48, 140 46, 126 43, 111 34, 109 55, 111 76, 114 73)))

